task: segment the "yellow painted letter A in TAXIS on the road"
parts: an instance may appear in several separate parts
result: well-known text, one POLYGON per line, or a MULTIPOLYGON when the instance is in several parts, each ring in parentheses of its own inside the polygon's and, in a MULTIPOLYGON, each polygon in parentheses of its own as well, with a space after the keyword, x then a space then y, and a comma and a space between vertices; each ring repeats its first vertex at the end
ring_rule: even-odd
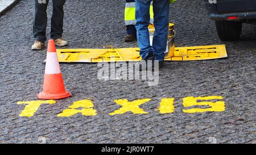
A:
POLYGON ((90 100, 80 100, 73 103, 73 105, 69 106, 69 109, 65 109, 62 113, 58 114, 58 117, 70 117, 77 113, 81 113, 85 116, 93 116, 97 115, 97 111, 93 109, 93 102, 90 100), (83 108, 78 110, 78 108, 83 108))

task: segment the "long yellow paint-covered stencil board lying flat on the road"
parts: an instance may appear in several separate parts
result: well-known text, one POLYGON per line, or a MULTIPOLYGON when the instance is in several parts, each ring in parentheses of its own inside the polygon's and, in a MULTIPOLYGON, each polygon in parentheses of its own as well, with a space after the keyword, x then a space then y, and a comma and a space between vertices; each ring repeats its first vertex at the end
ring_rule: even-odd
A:
MULTIPOLYGON (((175 48, 165 61, 199 61, 228 57, 225 45, 175 48), (171 56, 170 56, 171 55, 171 56)), ((140 61, 139 48, 57 49, 59 62, 128 62, 140 61)))

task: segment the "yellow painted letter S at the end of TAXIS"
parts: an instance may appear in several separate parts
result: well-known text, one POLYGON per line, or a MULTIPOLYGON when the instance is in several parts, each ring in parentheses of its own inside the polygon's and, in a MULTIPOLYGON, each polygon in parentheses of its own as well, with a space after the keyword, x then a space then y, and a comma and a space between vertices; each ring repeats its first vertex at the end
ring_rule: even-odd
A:
POLYGON ((184 113, 204 113, 206 111, 225 111, 225 102, 217 101, 217 102, 197 102, 197 100, 222 100, 224 97, 222 96, 207 96, 207 97, 185 97, 183 98, 183 105, 185 107, 189 106, 202 106, 207 105, 210 106, 206 109, 200 108, 192 108, 188 110, 183 110, 184 113))

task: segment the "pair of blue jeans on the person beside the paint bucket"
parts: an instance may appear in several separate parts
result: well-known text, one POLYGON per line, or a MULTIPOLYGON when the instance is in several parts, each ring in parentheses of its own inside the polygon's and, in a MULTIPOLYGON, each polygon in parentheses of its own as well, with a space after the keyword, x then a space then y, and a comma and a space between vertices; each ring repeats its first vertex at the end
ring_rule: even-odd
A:
POLYGON ((150 23, 150 2, 152 0, 135 0, 137 40, 142 59, 146 59, 148 53, 154 53, 156 60, 164 61, 169 25, 170 0, 153 1, 155 33, 153 44, 150 45, 148 24, 150 23))

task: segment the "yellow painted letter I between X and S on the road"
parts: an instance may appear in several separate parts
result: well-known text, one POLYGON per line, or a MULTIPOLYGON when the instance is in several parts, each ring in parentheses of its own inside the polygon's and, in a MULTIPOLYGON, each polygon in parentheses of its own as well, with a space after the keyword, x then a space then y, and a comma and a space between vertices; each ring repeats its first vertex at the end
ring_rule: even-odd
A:
POLYGON ((163 98, 158 107, 160 114, 168 114, 174 112, 174 98, 163 98))

